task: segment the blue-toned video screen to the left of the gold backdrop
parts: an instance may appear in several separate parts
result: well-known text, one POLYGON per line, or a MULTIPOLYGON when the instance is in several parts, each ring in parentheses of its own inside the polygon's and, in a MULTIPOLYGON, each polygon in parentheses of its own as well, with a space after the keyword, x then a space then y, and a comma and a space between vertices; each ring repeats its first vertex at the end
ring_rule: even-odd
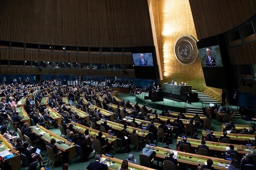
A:
POLYGON ((133 53, 134 66, 154 66, 152 53, 133 53))

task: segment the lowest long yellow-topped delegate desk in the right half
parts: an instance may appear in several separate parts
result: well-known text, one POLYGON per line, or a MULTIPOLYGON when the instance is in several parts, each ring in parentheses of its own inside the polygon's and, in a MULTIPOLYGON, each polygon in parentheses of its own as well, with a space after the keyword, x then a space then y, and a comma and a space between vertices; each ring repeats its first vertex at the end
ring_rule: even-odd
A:
MULTIPOLYGON (((154 149, 154 151, 156 152, 156 157, 164 160, 165 157, 169 156, 169 151, 170 149, 166 149, 166 148, 161 148, 161 147, 153 147, 150 146, 151 148, 154 149)), ((183 164, 187 164, 187 165, 193 165, 198 166, 198 164, 204 164, 204 162, 207 162, 208 159, 212 159, 212 161, 214 162, 213 166, 215 167, 215 169, 226 169, 225 167, 227 167, 227 161, 225 159, 221 159, 221 158, 215 158, 215 157, 209 157, 209 156, 203 156, 203 155, 196 155, 196 154, 190 154, 190 153, 185 153, 185 152, 180 152, 180 151, 175 151, 172 150, 174 152, 177 152, 177 160, 179 163, 183 163, 183 164), (225 167, 219 166, 218 164, 221 163, 223 165, 225 165, 225 167)))

